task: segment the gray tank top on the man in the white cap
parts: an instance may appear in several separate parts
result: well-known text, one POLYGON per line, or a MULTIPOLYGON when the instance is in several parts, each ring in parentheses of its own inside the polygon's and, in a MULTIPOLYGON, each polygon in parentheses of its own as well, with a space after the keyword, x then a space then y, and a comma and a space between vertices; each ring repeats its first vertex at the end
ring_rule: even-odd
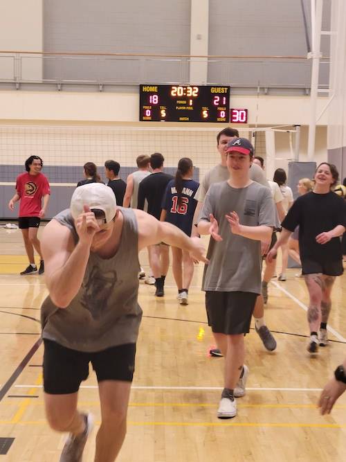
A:
MULTIPOLYGON (((90 254, 82 287, 67 308, 48 296, 42 304, 42 337, 84 352, 136 343, 142 310, 138 305, 138 226, 131 208, 119 207, 124 224, 116 255, 90 254)), ((54 217, 78 235, 69 209, 54 217)))

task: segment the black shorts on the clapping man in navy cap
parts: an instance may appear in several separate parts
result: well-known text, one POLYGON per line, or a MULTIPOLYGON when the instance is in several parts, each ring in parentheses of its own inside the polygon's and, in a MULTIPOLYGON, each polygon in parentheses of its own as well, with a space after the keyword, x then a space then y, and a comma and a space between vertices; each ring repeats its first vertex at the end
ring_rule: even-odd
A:
POLYGON ((206 292, 208 325, 212 332, 247 334, 257 296, 253 292, 206 292))

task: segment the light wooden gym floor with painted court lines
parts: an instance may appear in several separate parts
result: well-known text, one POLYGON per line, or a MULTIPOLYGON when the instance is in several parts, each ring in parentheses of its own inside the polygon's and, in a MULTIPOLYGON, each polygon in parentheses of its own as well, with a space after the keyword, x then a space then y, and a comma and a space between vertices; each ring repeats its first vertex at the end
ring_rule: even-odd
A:
MULTIPOLYGON (((46 296, 43 276, 19 276, 27 265, 19 230, 0 229, 0 448, 1 461, 55 462, 64 436, 48 428, 42 396, 42 345, 39 308, 46 296), (4 438, 4 439, 1 439, 4 438), (6 444, 2 447, 6 452, 6 444)), ((141 256, 146 261, 146 252, 141 256)), ((288 280, 273 279, 266 323, 277 350, 268 353, 253 329, 246 337, 250 369, 247 393, 238 399, 238 416, 216 417, 223 359, 208 357, 213 344, 197 267, 190 301, 176 301, 172 272, 165 297, 140 283, 143 322, 138 339, 128 432, 122 462, 345 461, 346 396, 331 416, 316 409, 321 387, 346 355, 346 276, 333 294, 329 346, 311 358, 307 344, 307 291, 289 269, 288 280)), ((80 389, 80 409, 100 424, 96 381, 91 372, 80 389)), ((84 452, 93 461, 95 430, 84 452)))

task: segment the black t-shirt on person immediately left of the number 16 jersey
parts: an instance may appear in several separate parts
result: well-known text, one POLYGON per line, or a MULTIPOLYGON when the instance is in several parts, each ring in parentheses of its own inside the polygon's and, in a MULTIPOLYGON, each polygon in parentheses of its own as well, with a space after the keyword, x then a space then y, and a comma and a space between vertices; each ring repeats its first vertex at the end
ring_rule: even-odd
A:
POLYGON ((165 195, 167 184, 171 179, 173 179, 172 175, 157 172, 140 181, 138 208, 143 210, 145 199, 147 199, 148 213, 160 220, 162 199, 165 195))

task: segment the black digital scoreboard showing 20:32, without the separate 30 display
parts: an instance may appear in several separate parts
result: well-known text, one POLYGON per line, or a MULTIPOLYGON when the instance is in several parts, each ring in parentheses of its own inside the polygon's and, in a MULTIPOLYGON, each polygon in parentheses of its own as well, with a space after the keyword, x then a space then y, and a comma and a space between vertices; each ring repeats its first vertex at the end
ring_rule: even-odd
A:
POLYGON ((140 85, 139 120, 220 122, 230 120, 230 87, 220 85, 140 85))

